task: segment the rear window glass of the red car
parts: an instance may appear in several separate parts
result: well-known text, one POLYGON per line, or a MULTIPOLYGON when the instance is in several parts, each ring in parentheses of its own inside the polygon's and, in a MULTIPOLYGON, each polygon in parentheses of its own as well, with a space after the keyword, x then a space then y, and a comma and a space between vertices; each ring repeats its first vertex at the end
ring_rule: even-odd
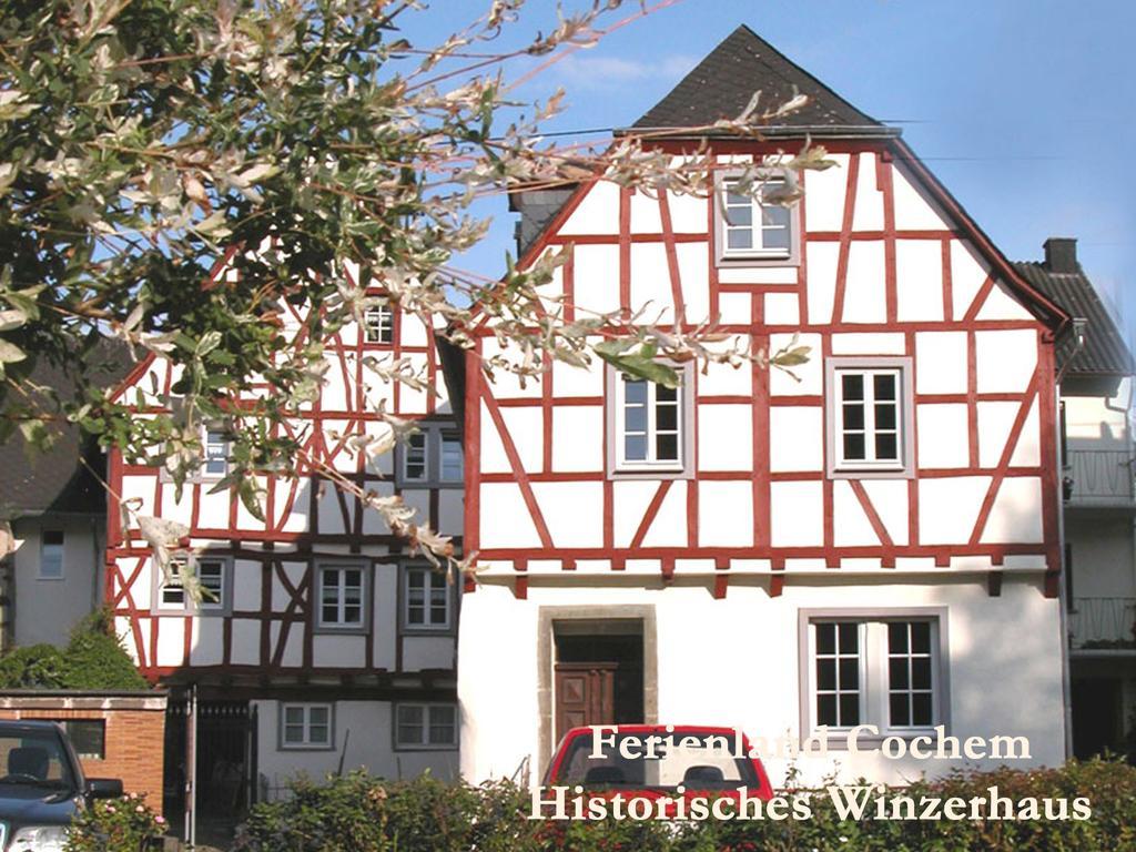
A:
POLYGON ((560 765, 556 784, 580 784, 588 788, 619 787, 674 791, 737 790, 759 785, 753 763, 744 754, 735 755, 734 737, 727 734, 659 732, 665 741, 648 757, 645 738, 650 733, 605 733, 593 757, 593 737, 573 738, 560 765), (626 742, 630 738, 632 742, 626 742), (621 746, 627 746, 621 749, 621 746), (621 753, 623 751, 623 753, 621 753), (627 758, 626 753, 642 755, 627 758))

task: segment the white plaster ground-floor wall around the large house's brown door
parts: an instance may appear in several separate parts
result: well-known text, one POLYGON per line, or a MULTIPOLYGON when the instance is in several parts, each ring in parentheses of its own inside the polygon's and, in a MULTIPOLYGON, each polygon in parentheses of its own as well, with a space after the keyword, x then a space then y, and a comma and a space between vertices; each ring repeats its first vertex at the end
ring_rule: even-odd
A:
MULTIPOLYGON (((799 736, 797 623, 801 609, 947 608, 950 732, 960 737, 1025 736, 1031 759, 1063 759, 1059 603, 1039 583, 1008 580, 1000 598, 982 582, 919 585, 786 585, 770 599, 735 582, 724 600, 705 587, 549 588, 531 586, 515 600, 501 586, 468 595, 462 613, 459 695, 462 774, 470 780, 509 776, 529 755, 540 779, 549 755, 537 754, 537 612, 541 605, 650 604, 655 608, 659 722, 738 726, 753 737, 799 736), (698 641, 690 626, 696 624, 698 641), (506 628, 507 626, 507 628, 506 628), (1006 635, 1014 642, 1006 644, 1006 635), (997 653, 989 653, 997 648, 997 653), (495 673, 508 670, 509 678, 495 673), (1028 701, 1021 696, 1028 695, 1028 701)), ((1001 761, 979 761, 994 768, 1001 761)), ((903 783, 942 774, 961 761, 888 760, 878 754, 797 760, 802 783, 836 771, 844 782, 864 776, 903 783)), ((788 763, 767 761, 775 786, 788 763)))

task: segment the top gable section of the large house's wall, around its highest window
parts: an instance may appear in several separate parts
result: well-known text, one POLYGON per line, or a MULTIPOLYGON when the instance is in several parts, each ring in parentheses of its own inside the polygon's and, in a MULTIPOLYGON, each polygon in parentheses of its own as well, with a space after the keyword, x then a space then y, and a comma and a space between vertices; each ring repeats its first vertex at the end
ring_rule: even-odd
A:
MULTIPOLYGON (((800 266, 718 264, 710 199, 652 198, 600 179, 577 189, 523 264, 570 247, 570 265, 552 289, 587 311, 646 307, 645 323, 673 323, 682 312, 691 323, 718 315, 749 325, 749 300, 734 298, 743 285, 778 289, 782 298, 770 292, 774 309, 762 315, 766 324, 776 315, 774 325, 1036 318, 1056 328, 1064 321, 909 149, 897 141, 833 148, 836 168, 803 176, 800 266), (793 287, 804 294, 795 316, 784 301, 793 287)), ((737 159, 720 154, 719 167, 737 159)))

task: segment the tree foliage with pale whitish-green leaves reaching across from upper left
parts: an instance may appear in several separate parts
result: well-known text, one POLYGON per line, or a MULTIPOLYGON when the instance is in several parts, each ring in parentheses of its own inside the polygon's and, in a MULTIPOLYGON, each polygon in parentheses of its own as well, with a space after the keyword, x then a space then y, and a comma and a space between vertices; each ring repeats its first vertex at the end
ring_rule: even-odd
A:
MULTIPOLYGON (((561 262, 554 253, 525 270, 510 261, 501 282, 454 268, 485 234, 469 208, 487 193, 600 175, 649 192, 709 185, 704 151, 676 167, 634 134, 591 153, 542 142, 537 124, 560 94, 513 103, 508 62, 553 61, 594 42, 621 2, 563 11, 553 31, 494 53, 523 6, 492 0, 444 43, 421 47, 400 31, 417 0, 6 0, 0 440, 19 428, 47 448, 52 420, 65 417, 127 462, 166 468, 181 487, 200 465, 202 424, 224 420, 232 458, 217 487, 259 516, 258 476, 303 468, 336 478, 303 454, 296 424, 328 367, 324 342, 381 300, 457 345, 468 345, 477 310, 504 344, 486 370, 523 379, 550 359, 595 356, 670 384, 678 374, 658 358, 767 364, 767 353, 718 334, 715 317, 660 328, 645 311, 578 309, 565 321, 541 291, 561 262), (36 359, 81 360, 107 335, 168 359, 170 393, 139 387, 112 399, 87 387, 44 409, 28 386, 36 359)), ((759 103, 707 130, 752 135, 795 106, 759 103)), ((828 164, 812 149, 790 165, 828 164)), ((803 353, 771 360, 790 366, 803 353)), ((426 387, 408 361, 366 366, 375 381, 426 387)), ((351 444, 368 457, 414 428, 377 414, 385 436, 351 444)), ((359 495, 427 557, 453 558, 398 498, 359 495)), ((143 532, 161 556, 185 531, 154 520, 143 532)))

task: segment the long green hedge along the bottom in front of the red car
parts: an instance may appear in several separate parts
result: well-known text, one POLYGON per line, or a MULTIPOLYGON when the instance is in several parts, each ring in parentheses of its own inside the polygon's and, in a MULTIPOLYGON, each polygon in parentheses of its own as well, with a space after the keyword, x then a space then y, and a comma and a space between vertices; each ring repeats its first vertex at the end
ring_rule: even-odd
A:
POLYGON ((364 774, 317 785, 300 780, 289 801, 256 805, 241 852, 1096 852, 1136 851, 1136 769, 1122 762, 1070 762, 1061 769, 955 772, 887 791, 919 800, 1036 799, 1038 819, 841 820, 824 791, 810 819, 660 821, 531 820, 529 795, 508 783, 474 787, 428 776, 387 783, 364 774), (1088 797, 1087 820, 1046 819, 1045 799, 1088 797))

